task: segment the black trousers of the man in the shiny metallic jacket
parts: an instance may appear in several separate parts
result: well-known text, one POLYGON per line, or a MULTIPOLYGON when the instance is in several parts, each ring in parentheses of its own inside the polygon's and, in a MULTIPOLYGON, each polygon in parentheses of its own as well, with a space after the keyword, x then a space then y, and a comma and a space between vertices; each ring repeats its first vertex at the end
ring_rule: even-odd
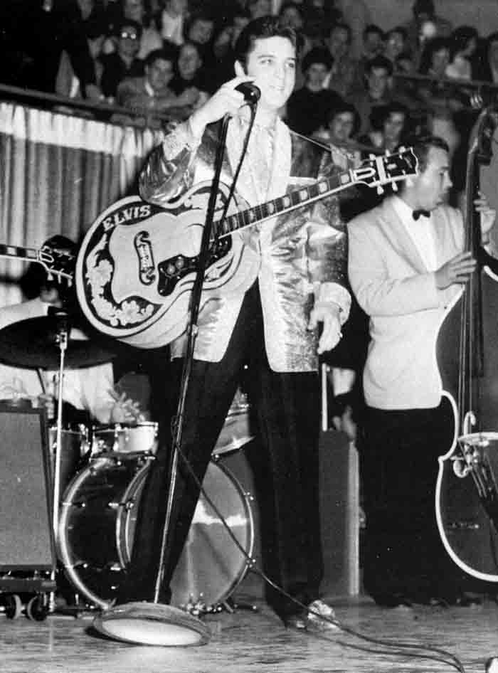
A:
MULTIPOLYGON (((275 373, 267 362, 258 285, 246 293, 228 349, 218 363, 194 360, 186 399, 183 454, 198 479, 211 460, 213 447, 233 401, 240 373, 248 364, 248 395, 255 413, 263 456, 267 461, 255 479, 271 497, 261 519, 272 521, 265 536, 267 570, 273 581, 303 603, 317 598, 322 579, 319 535, 318 438, 319 380, 316 373, 275 373)), ((174 361, 171 390, 176 400, 181 361, 174 361)), ((176 404, 176 402, 175 402, 176 404)), ((175 408, 176 410, 176 408, 175 408)), ((161 534, 166 510, 171 437, 164 424, 157 460, 147 477, 139 508, 132 563, 118 602, 153 600, 161 534)), ((169 600, 169 582, 184 546, 198 499, 198 487, 179 458, 161 602, 169 600)), ((272 592, 277 613, 295 611, 272 592)))

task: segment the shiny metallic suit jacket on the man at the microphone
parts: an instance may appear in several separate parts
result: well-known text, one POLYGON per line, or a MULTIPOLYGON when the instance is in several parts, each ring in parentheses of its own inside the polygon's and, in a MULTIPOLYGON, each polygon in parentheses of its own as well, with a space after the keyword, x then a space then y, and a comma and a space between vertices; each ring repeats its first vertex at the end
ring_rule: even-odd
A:
MULTIPOLYGON (((243 142, 240 122, 237 119, 232 122, 221 174, 221 181, 228 185, 243 142)), ((154 149, 144 166, 139 178, 142 198, 167 207, 172 197, 201 181, 211 181, 218 131, 218 124, 212 125, 201 139, 196 139, 189 122, 179 124, 154 149)), ((276 151, 263 201, 283 196, 335 170, 327 151, 290 132, 281 120, 277 120, 274 142, 276 151)), ((257 146, 255 149, 258 152, 257 146)), ((252 179, 249 152, 244 164, 237 183, 238 206, 240 199, 256 206, 262 199, 252 179)), ((341 322, 349 314, 346 229, 339 216, 337 198, 329 196, 301 206, 233 236, 243 239, 245 277, 237 290, 224 294, 222 289, 218 297, 203 304, 196 359, 221 360, 244 293, 258 279, 271 368, 278 372, 314 371, 318 365, 317 334, 308 329, 314 302, 339 304, 341 322)), ((180 336, 171 344, 171 355, 181 356, 184 345, 184 336, 180 336)))

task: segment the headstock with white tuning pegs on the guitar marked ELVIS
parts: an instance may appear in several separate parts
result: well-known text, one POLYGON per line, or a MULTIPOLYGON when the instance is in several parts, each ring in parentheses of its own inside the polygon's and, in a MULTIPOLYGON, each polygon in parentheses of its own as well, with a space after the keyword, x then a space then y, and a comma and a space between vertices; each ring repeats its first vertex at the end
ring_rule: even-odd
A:
POLYGON ((352 169, 352 174, 356 182, 361 182, 369 187, 377 187, 379 193, 382 193, 382 186, 385 184, 394 184, 401 180, 406 180, 409 176, 417 174, 417 157, 413 154, 413 149, 400 147, 399 152, 395 154, 380 154, 378 157, 371 157, 362 161, 360 166, 352 169))

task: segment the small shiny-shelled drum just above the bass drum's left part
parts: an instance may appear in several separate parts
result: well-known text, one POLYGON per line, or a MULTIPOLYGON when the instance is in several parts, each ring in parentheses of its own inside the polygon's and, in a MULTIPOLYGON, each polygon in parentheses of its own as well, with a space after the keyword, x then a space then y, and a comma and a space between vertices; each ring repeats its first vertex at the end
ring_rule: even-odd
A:
POLYGON ((116 423, 94 426, 92 456, 102 452, 156 453, 157 423, 116 423))

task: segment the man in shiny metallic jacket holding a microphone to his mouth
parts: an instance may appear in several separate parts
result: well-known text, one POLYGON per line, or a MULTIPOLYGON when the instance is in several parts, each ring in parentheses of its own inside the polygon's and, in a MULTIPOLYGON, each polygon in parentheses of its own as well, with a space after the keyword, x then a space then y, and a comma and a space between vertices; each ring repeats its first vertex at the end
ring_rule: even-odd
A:
MULTIPOLYGON (((258 87, 260 99, 238 177, 239 203, 240 198, 250 206, 265 203, 334 170, 324 149, 290 132, 278 115, 294 88, 295 32, 277 17, 258 18, 240 34, 235 53, 235 78, 152 152, 140 176, 142 198, 166 205, 191 186, 212 179, 221 126, 217 122, 226 115, 231 121, 221 180, 231 184, 250 120, 244 88, 237 89, 245 83, 258 87)), ((290 596, 272 591, 268 600, 288 627, 329 627, 330 622, 317 616, 334 616, 319 599, 323 567, 317 361, 318 354, 336 346, 349 313, 346 233, 337 198, 300 206, 233 236, 241 237, 244 245, 240 284, 226 293, 221 287, 218 297, 203 304, 198 320, 160 600, 169 602, 169 581, 198 499, 184 457, 202 481, 240 372, 248 364, 248 395, 267 457, 265 481, 272 489, 272 511, 262 512, 266 520, 273 519, 267 567, 272 581, 290 596)), ((185 341, 181 336, 171 344, 176 386, 185 341)), ((144 489, 129 579, 120 590, 119 603, 154 600, 169 434, 166 421, 144 489)))

